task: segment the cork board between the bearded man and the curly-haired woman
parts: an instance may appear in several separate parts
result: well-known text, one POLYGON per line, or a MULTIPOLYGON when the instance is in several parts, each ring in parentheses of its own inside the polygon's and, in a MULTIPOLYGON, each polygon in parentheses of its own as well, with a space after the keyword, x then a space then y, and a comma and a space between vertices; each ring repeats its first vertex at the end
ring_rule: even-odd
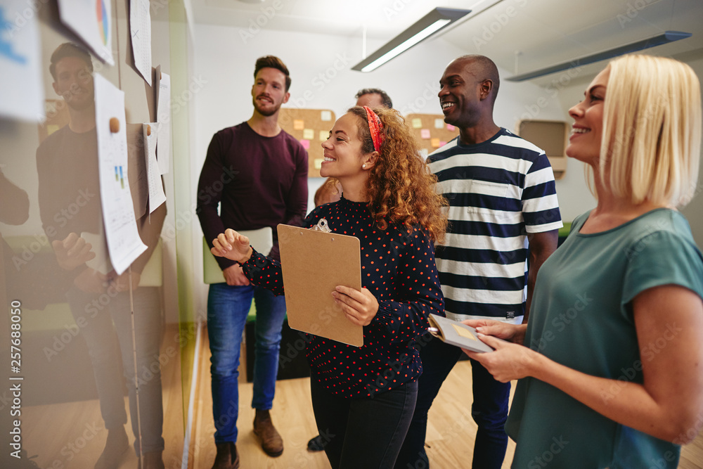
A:
POLYGON ((295 137, 308 153, 308 177, 321 177, 322 142, 335 125, 335 113, 328 109, 280 108, 278 125, 295 137))

